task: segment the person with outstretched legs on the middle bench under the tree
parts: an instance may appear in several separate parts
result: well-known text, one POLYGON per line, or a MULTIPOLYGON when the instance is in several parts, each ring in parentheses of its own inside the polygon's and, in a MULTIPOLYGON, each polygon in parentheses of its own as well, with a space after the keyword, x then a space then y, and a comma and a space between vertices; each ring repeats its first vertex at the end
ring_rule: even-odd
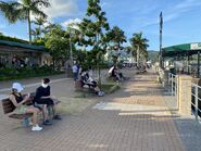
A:
POLYGON ((88 72, 86 70, 83 70, 81 76, 80 76, 81 86, 87 85, 90 89, 92 89, 98 96, 103 96, 104 92, 100 90, 98 87, 97 81, 89 76, 88 72))

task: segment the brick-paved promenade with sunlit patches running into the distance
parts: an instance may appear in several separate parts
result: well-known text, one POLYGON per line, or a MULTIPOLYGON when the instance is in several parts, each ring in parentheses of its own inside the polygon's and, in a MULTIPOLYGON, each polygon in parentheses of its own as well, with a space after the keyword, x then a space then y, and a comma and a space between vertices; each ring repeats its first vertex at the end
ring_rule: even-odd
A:
MULTIPOLYGON (((151 71, 129 76, 122 89, 93 102, 76 115, 63 115, 61 122, 33 133, 10 119, 0 106, 0 151, 185 151, 173 115, 166 106, 164 90, 151 71)), ((72 79, 52 77, 53 95, 67 101, 75 92, 72 79)), ((26 91, 39 79, 23 80, 26 91)), ((0 95, 9 93, 10 83, 0 84, 0 95)))

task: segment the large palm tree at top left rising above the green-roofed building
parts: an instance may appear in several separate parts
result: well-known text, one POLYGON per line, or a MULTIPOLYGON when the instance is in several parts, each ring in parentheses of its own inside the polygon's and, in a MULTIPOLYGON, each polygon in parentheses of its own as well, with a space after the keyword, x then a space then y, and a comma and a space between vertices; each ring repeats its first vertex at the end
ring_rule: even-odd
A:
POLYGON ((0 1, 0 11, 8 18, 9 23, 15 23, 16 21, 27 21, 29 42, 32 43, 32 27, 30 27, 30 14, 47 18, 47 15, 39 9, 39 7, 48 8, 50 3, 48 0, 22 0, 20 2, 3 2, 0 1))

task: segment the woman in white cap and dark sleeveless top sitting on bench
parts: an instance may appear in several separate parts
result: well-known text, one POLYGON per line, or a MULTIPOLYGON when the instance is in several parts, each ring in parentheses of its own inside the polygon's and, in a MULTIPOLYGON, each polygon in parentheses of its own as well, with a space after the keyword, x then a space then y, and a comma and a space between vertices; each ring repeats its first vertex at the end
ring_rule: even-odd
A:
POLYGON ((37 122, 37 115, 40 112, 38 108, 35 108, 34 105, 26 105, 24 104, 26 101, 28 101, 29 96, 23 96, 21 95, 23 90, 23 86, 20 83, 13 83, 12 85, 12 93, 10 95, 9 99, 12 101, 12 103, 16 106, 15 112, 17 114, 25 114, 25 113, 33 113, 33 131, 39 131, 42 129, 42 127, 38 126, 37 122))

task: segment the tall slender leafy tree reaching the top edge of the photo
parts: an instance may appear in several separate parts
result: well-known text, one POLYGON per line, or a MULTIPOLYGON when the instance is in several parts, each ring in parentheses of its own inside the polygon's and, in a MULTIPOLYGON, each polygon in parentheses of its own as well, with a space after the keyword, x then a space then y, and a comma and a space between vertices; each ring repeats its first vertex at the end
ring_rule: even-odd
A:
POLYGON ((88 0, 88 8, 85 18, 79 25, 83 36, 83 45, 90 46, 92 54, 96 54, 96 63, 99 71, 100 81, 100 60, 103 50, 106 49, 103 42, 106 30, 110 29, 105 12, 100 7, 100 0, 88 0))

